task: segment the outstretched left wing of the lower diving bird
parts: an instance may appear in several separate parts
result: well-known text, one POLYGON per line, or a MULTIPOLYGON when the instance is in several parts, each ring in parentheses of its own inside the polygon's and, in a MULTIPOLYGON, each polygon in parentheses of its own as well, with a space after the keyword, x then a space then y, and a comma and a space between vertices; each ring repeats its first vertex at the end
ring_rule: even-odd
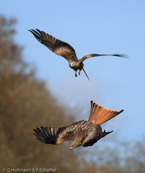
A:
POLYGON ((81 121, 66 127, 43 127, 36 128, 34 135, 36 139, 45 144, 60 144, 64 141, 73 141, 77 138, 76 129, 81 121))

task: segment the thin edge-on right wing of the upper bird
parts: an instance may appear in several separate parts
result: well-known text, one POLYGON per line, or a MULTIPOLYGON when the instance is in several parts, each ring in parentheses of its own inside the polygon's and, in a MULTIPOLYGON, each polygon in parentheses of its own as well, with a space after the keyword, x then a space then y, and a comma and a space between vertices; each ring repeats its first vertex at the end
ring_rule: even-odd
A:
POLYGON ((83 62, 85 59, 88 59, 88 58, 92 58, 92 57, 95 57, 95 56, 118 56, 118 57, 121 57, 121 58, 125 58, 126 55, 124 54, 88 54, 86 56, 84 56, 82 59, 79 60, 79 63, 83 62))

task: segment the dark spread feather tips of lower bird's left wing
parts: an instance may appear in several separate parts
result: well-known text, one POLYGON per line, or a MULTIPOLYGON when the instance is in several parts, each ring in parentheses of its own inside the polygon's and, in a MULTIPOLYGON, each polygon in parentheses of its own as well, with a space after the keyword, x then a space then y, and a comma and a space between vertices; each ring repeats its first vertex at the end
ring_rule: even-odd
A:
POLYGON ((34 130, 34 135, 36 139, 44 144, 56 144, 56 139, 58 133, 62 130, 60 127, 43 127, 36 128, 34 130))

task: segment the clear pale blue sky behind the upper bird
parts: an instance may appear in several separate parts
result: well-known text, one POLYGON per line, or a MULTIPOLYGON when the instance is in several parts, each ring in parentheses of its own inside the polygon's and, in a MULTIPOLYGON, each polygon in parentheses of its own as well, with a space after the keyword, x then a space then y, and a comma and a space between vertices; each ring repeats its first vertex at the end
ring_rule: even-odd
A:
POLYGON ((144 9, 144 0, 0 1, 1 14, 18 20, 15 39, 24 46, 25 61, 36 68, 58 102, 78 111, 77 120, 88 118, 90 100, 110 109, 124 109, 103 127, 135 140, 145 134, 144 9), (84 68, 91 81, 83 72, 75 78, 64 58, 28 32, 35 28, 69 43, 78 58, 89 53, 123 53, 129 59, 88 59, 84 68))

